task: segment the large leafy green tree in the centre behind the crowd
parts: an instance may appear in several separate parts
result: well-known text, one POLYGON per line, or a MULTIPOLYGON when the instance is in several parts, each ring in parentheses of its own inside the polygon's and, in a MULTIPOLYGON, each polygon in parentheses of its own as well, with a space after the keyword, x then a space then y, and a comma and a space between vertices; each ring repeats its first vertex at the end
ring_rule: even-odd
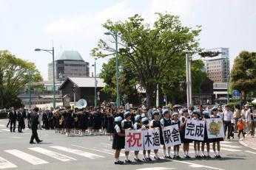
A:
MULTIPOLYGON (((145 24, 140 15, 134 15, 124 22, 107 21, 103 25, 118 35, 118 54, 124 56, 125 65, 146 90, 147 106, 153 105, 156 86, 165 69, 185 65, 185 54, 199 51, 197 37, 201 32, 200 26, 195 29, 182 26, 178 16, 169 13, 157 15, 153 26, 145 24)), ((107 49, 110 49, 108 43, 100 40, 98 47, 92 50, 93 55, 106 56, 107 49)))

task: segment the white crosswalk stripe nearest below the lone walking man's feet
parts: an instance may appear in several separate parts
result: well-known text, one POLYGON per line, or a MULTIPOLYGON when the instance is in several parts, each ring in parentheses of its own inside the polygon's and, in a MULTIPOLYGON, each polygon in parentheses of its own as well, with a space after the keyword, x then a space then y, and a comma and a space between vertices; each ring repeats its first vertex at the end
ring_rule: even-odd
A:
POLYGON ((69 157, 67 155, 62 155, 62 154, 59 154, 58 152, 53 152, 53 151, 50 151, 48 149, 44 149, 44 148, 41 148, 41 147, 34 147, 34 148, 28 148, 28 149, 33 150, 33 151, 38 152, 38 153, 41 153, 43 155, 47 155, 49 157, 53 157, 56 160, 61 160, 62 162, 67 162, 67 161, 70 161, 70 160, 76 160, 73 157, 69 157))

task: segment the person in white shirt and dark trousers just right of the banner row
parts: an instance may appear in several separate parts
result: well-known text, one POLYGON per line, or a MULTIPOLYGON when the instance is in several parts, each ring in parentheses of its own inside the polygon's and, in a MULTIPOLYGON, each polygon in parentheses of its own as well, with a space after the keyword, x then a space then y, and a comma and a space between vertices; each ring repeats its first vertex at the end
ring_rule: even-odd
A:
POLYGON ((226 130, 228 130, 227 139, 230 140, 231 135, 231 123, 233 122, 233 113, 229 110, 229 106, 225 106, 225 110, 223 112, 223 125, 224 125, 224 134, 226 136, 226 130))

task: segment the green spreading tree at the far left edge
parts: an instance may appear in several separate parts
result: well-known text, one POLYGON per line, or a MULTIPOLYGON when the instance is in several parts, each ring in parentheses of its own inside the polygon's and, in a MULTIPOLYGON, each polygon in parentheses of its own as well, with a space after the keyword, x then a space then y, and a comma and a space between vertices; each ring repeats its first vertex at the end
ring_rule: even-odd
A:
POLYGON ((18 105, 19 91, 28 82, 41 81, 34 63, 22 60, 8 51, 0 51, 0 107, 18 105))

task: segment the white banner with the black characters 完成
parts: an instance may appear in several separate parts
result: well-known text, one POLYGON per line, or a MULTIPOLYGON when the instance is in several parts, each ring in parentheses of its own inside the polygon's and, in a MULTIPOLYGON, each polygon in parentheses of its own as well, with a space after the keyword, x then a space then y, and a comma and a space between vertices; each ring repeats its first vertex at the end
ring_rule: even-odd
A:
POLYGON ((185 138, 203 141, 205 121, 188 119, 186 121, 185 138))

